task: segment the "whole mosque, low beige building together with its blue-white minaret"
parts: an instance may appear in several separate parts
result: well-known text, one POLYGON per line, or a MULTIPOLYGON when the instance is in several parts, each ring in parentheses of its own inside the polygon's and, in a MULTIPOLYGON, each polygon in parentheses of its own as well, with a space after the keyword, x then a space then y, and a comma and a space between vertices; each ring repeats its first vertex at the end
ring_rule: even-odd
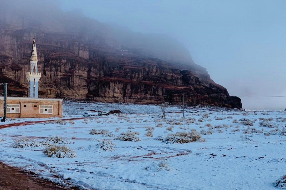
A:
MULTIPOLYGON (((35 35, 30 58, 30 71, 26 73, 29 82, 28 97, 7 97, 8 118, 49 118, 62 117, 63 99, 39 98, 39 80, 37 47, 35 35)), ((4 97, 0 97, 0 116, 4 115, 4 97)))

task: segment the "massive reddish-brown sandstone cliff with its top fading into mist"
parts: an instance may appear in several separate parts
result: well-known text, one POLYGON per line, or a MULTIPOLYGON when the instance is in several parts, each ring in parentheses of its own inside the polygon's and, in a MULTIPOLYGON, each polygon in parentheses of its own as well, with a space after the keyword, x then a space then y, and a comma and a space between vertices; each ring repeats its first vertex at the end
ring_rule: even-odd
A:
MULTIPOLYGON (((38 69, 42 73, 39 97, 182 103, 182 95, 173 95, 182 92, 186 93, 186 104, 242 107, 238 97, 229 96, 227 89, 212 81, 206 69, 194 64, 190 54, 176 43, 164 45, 166 49, 148 48, 150 36, 138 40, 139 45, 130 43, 120 32, 92 19, 88 29, 93 32, 82 32, 66 21, 57 21, 61 23, 58 28, 44 19, 50 28, 43 23, 31 28, 32 19, 18 23, 12 17, 15 15, 7 19, 5 14, 0 19, 0 82, 9 83, 10 95, 27 95, 31 32, 37 30, 38 69)), ((138 34, 130 38, 138 38, 138 34)))

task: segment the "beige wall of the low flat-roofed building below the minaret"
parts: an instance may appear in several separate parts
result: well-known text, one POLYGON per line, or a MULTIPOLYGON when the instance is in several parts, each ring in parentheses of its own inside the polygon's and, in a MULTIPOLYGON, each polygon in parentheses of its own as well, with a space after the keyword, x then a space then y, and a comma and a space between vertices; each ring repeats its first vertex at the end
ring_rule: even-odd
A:
MULTIPOLYGON (((4 99, 0 99, 0 116, 3 117, 4 99)), ((20 113, 7 113, 8 118, 48 118, 48 117, 62 117, 63 115, 63 102, 62 99, 33 99, 33 98, 21 98, 9 99, 7 97, 7 104, 20 104, 20 113), (24 107, 24 105, 26 107, 24 107), (53 105, 52 114, 40 114, 39 105, 53 105), (37 107, 35 107, 37 106, 37 107)))

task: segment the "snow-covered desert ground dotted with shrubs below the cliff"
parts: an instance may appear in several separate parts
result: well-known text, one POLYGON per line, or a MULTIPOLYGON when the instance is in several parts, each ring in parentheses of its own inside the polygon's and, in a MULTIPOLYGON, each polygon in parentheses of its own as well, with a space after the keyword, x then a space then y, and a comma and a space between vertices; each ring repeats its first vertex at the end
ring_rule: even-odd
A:
MULTIPOLYGON (((172 106, 166 118, 160 119, 158 105, 65 102, 62 119, 79 118, 85 112, 97 115, 89 110, 123 113, 0 129, 0 161, 82 189, 271 190, 277 189, 275 181, 286 174, 283 111, 186 107, 182 118, 182 107, 172 106), (243 118, 250 121, 240 121, 243 118), (252 122, 247 129, 246 124, 252 122), (103 134, 90 134, 92 129, 103 134), (115 140, 128 130, 140 141, 115 140), (201 132, 200 142, 164 142, 168 134, 195 130, 201 132), (77 157, 45 155, 42 150, 55 142, 55 135, 65 137, 64 144, 56 145, 71 148, 77 157), (163 140, 154 140, 158 136, 163 140), (22 138, 28 140, 17 141, 22 138), (20 146, 24 148, 14 148, 20 146)), ((46 119, 8 123, 39 120, 46 119)))

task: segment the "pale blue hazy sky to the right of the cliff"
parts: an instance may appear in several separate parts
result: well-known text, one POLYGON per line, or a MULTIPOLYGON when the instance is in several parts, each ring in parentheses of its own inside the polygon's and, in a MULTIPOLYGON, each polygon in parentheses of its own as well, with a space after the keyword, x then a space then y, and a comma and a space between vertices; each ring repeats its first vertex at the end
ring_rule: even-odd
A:
MULTIPOLYGON (((100 22, 168 34, 230 95, 286 95, 286 1, 59 0, 100 22)), ((242 98, 248 109, 284 109, 285 98, 242 98)))

